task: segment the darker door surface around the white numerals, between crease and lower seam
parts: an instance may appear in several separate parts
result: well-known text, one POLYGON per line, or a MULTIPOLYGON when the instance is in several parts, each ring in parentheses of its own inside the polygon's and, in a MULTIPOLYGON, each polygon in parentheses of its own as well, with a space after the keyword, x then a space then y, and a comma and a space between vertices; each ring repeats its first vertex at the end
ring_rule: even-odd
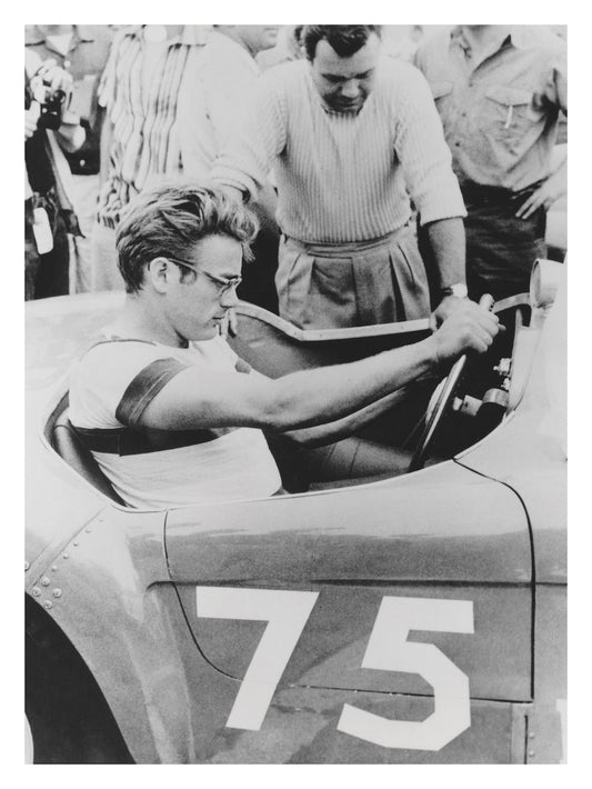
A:
MULTIPOLYGON (((311 695, 321 688, 432 695, 430 685, 417 673, 362 668, 383 598, 411 597, 471 601, 474 633, 417 631, 409 640, 433 643, 444 652, 469 677, 472 698, 531 699, 530 587, 312 583, 290 589, 318 591, 319 597, 279 689, 297 685, 310 688, 311 695)), ((195 587, 182 585, 179 592, 200 651, 220 671, 242 679, 264 622, 198 617, 195 587)))

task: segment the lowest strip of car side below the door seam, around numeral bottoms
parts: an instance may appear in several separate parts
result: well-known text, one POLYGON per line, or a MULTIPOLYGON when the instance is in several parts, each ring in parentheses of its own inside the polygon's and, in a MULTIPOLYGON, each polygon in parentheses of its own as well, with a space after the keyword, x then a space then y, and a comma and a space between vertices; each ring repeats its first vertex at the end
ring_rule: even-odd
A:
MULTIPOLYGON (((203 681, 200 678, 200 681, 203 681)), ((230 680, 225 680, 227 685, 230 680)), ((235 695, 229 688, 227 705, 235 695)), ((213 692, 220 688, 213 686, 213 692)), ((199 760, 204 763, 510 763, 514 722, 511 703, 471 702, 471 727, 439 751, 379 748, 338 730, 344 705, 387 719, 420 721, 433 710, 422 696, 285 688, 279 690, 260 731, 224 727, 224 718, 208 718, 212 727, 199 760)), ((205 711, 205 716, 208 710, 205 711)))

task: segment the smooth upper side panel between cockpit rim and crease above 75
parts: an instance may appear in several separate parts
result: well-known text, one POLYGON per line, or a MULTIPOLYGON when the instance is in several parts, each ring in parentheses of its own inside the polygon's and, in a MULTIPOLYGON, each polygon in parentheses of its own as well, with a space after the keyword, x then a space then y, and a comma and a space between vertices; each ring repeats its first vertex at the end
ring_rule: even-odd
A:
POLYGON ((452 462, 413 482, 171 510, 167 552, 175 581, 531 580, 520 500, 452 462))

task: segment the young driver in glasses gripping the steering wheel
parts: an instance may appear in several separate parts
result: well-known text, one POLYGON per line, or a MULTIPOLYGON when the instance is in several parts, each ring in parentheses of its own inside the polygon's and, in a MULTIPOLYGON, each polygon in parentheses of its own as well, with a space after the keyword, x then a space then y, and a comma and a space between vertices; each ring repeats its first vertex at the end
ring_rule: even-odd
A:
MULTIPOLYGON (((398 389, 484 352, 498 333, 498 319, 466 300, 415 344, 267 378, 221 333, 255 232, 222 191, 179 184, 144 191, 118 228, 126 303, 73 372, 70 420, 132 507, 271 496, 282 481, 263 430, 338 441, 398 389)), ((375 462, 402 470, 390 448, 375 462)))

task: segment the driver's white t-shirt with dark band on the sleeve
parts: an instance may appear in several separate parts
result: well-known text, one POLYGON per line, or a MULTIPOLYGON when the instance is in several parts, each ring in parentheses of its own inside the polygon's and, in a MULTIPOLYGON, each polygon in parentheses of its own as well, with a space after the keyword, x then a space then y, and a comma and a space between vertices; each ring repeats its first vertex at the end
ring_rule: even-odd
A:
POLYGON ((281 487, 261 430, 138 428, 149 402, 191 366, 237 374, 250 369, 215 337, 188 348, 108 339, 93 346, 72 372, 70 421, 131 507, 259 499, 281 487))

